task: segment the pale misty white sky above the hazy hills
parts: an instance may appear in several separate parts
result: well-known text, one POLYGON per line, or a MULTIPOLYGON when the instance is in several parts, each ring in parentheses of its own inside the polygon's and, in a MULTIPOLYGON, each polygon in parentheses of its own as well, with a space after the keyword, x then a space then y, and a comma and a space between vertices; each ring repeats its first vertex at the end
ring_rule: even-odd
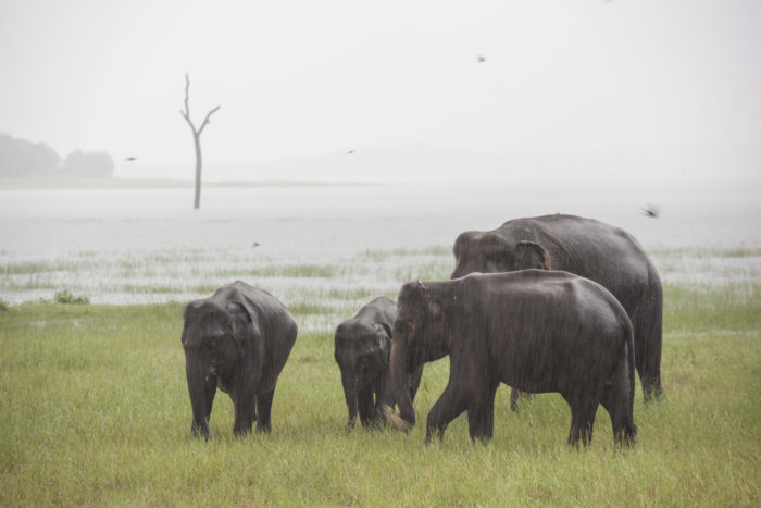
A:
POLYGON ((761 170, 758 0, 0 0, 0 132, 61 156, 191 164, 186 71, 197 122, 222 104, 207 163, 423 144, 761 170))

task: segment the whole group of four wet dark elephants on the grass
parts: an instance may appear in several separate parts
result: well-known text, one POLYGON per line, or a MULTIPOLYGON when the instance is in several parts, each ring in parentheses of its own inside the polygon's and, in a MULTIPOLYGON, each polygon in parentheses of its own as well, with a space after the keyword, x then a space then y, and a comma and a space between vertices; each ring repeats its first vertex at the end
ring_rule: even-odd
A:
MULTIPOLYGON (((407 283, 396 303, 375 298, 336 329, 346 429, 359 414, 363 426, 408 430, 423 365, 449 356, 426 443, 463 411, 471 438, 489 441, 504 383, 513 409, 520 393, 560 393, 571 408, 571 445, 589 444, 600 404, 615 442, 634 444, 635 369, 646 401, 663 394, 663 293, 637 240, 556 214, 462 233, 453 251, 451 280, 407 283)), ((297 335, 288 310, 238 281, 191 301, 183 317, 191 433, 209 438, 216 388, 233 400, 236 434, 254 421, 270 432, 275 385, 297 335)))

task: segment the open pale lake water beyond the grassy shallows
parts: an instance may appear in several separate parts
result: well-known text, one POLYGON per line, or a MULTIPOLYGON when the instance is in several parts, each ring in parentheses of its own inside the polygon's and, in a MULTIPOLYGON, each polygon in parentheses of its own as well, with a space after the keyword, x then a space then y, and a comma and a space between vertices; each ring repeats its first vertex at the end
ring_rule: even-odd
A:
MULTIPOLYGON (((207 258, 219 265, 335 264, 367 250, 448 247, 463 231, 556 212, 624 227, 648 250, 754 248, 761 246, 757 189, 739 183, 621 182, 208 188, 198 211, 191 189, 0 190, 0 267, 5 267, 0 287, 7 301, 47 296, 59 286, 82 287, 96 301, 144 301, 124 292, 109 296, 103 285, 82 278, 108 275, 113 270, 108 262, 115 259, 141 265, 135 276, 150 278, 146 267, 166 264, 157 258, 178 252, 211 252, 207 258), (641 213, 649 202, 662 207, 660 219, 641 213), (100 272, 67 273, 72 260, 100 263, 100 272), (9 267, 28 262, 63 268, 53 282, 9 275, 9 267)), ((198 272, 196 267, 158 278, 200 282, 198 272)), ((120 275, 123 286, 125 277, 120 275)))

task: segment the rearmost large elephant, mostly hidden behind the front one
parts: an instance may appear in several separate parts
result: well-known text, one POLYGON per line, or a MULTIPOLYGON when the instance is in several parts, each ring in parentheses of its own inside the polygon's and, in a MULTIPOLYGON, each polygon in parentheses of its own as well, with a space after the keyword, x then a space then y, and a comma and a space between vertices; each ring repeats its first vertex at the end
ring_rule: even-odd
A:
MULTIPOLYGON (((574 215, 515 219, 488 232, 465 232, 454 243, 452 278, 472 272, 511 272, 541 264, 536 249, 546 249, 547 269, 575 273, 602 284, 626 309, 634 327, 637 372, 645 400, 661 397, 663 288, 658 270, 643 247, 625 231, 574 215)), ((514 399, 514 398, 513 398, 514 399)))

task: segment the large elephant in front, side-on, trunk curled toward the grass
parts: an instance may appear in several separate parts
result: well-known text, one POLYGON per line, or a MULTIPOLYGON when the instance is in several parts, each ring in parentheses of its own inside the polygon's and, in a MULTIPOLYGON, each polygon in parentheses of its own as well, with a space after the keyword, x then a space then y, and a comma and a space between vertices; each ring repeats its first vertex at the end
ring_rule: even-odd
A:
POLYGON ((558 271, 474 273, 408 283, 398 306, 391 383, 406 422, 415 421, 409 372, 449 355, 449 384, 428 412, 426 443, 463 411, 471 438, 489 441, 500 382, 562 394, 571 445, 589 444, 599 404, 615 441, 634 443, 632 324, 601 285, 558 271))

